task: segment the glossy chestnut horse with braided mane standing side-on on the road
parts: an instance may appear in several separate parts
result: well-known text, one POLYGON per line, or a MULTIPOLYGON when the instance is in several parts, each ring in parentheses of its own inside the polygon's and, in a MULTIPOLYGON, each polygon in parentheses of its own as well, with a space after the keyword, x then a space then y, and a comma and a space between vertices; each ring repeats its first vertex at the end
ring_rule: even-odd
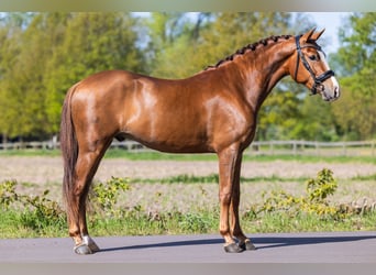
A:
POLYGON ((219 232, 224 251, 255 250, 243 233, 240 175, 243 151, 255 135, 257 112, 285 76, 325 101, 340 97, 316 28, 261 40, 185 79, 106 70, 74 85, 60 121, 63 197, 77 254, 100 249, 89 235, 86 198, 113 139, 168 153, 214 153, 219 164, 219 232))

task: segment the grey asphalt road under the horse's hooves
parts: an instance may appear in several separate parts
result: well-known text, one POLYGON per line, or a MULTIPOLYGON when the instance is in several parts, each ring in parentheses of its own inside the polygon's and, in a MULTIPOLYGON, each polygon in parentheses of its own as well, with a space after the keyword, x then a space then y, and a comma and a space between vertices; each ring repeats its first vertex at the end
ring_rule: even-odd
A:
POLYGON ((376 231, 250 234, 256 251, 228 254, 220 235, 95 238, 76 255, 69 238, 0 240, 0 263, 376 263, 376 231))

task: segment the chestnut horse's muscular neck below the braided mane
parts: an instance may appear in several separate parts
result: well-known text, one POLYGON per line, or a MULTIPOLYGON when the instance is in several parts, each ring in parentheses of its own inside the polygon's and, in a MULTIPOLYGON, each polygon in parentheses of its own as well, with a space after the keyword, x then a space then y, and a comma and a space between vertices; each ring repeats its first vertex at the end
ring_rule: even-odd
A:
POLYGON ((242 77, 244 96, 255 111, 274 86, 289 74, 288 62, 294 52, 291 42, 286 41, 259 48, 233 62, 242 77))

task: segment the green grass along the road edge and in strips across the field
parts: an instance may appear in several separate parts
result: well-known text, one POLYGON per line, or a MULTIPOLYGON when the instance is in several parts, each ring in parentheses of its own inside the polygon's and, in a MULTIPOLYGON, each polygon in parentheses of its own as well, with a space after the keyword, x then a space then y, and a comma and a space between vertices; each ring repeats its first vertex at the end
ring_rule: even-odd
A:
MULTIPOLYGON (((0 152, 1 156, 54 156, 58 157, 58 151, 9 151, 0 152)), ((108 158, 126 158, 132 161, 217 161, 214 154, 162 154, 157 152, 147 153, 126 153, 122 150, 110 150, 106 154, 108 158)), ((245 161, 259 162, 289 162, 297 161, 301 163, 375 163, 376 158, 371 157, 318 157, 318 156, 244 156, 245 161)), ((281 177, 278 175, 269 175, 267 177, 242 177, 242 183, 298 183, 303 184, 309 178, 306 177, 281 177)), ((376 174, 355 176, 346 182, 367 183, 374 182, 376 174)), ((118 179, 117 179, 118 180, 118 179)), ((124 179, 126 183, 119 182, 118 184, 155 184, 155 185, 174 185, 174 184, 217 184, 218 174, 207 176, 196 175, 177 175, 163 178, 132 178, 124 179)), ((32 183, 18 183, 23 189, 35 187, 32 183)), ((107 185, 103 186, 108 186, 107 185)), ((1 183, 0 183, 1 187, 1 183)), ((252 185, 254 187, 254 185, 252 185)), ((192 186, 195 188, 195 186, 192 186)), ((200 186, 200 188, 202 188, 200 186)), ((15 189, 14 189, 15 190, 15 189)), ((103 195, 103 199, 110 198, 104 195, 112 189, 98 190, 99 195, 103 195)), ((119 190, 113 189, 114 194, 119 190)), ((126 193, 126 188, 124 189, 126 193)), ((158 190, 163 193, 164 190, 158 190)), ((202 194, 204 190, 202 189, 202 194)), ((7 193, 9 195, 9 193, 7 193)), ((8 196, 5 194, 5 196, 8 196)), ((44 193, 43 193, 44 194, 44 193)), ((111 194, 110 194, 111 195, 111 194)), ((2 206, 1 198, 4 194, 0 189, 0 238, 37 238, 37 237, 67 237, 67 224, 65 215, 60 213, 58 205, 51 204, 46 196, 41 195, 35 200, 27 195, 24 195, 23 207, 14 208, 12 206, 2 206), (58 208, 58 209, 55 209, 58 208), (58 213, 57 217, 54 212, 58 213), (46 215, 47 213, 47 215, 46 215), (51 215, 49 215, 51 213, 51 215)), ((14 198, 20 202, 20 195, 13 193, 14 198)), ((155 195, 156 196, 156 195, 155 195)), ((203 195, 204 196, 204 195, 203 195)), ((99 196, 100 197, 100 196, 99 196)), ((175 198, 176 199, 176 198, 175 198)), ((245 199, 245 198, 244 198, 245 199)), ((157 201, 158 198, 155 198, 157 201)), ((264 200, 266 201, 266 199, 264 200)), ((113 209, 115 204, 108 201, 108 209, 113 209)), ((349 201, 351 202, 351 201, 349 201)), ((170 204, 170 201, 168 201, 170 204)), ((113 216, 109 215, 112 211, 91 211, 89 212, 88 223, 92 235, 150 235, 150 234, 195 234, 195 233, 218 233, 219 228, 219 206, 203 205, 197 207, 195 201, 191 201, 192 207, 188 212, 181 212, 176 209, 168 211, 158 208, 157 211, 150 211, 140 206, 124 207, 113 211, 113 216), (196 206, 196 207, 195 207, 196 206)), ((261 204, 261 202, 258 202, 261 204)), ((161 204, 163 206, 163 204, 161 204)), ((118 205, 119 206, 119 205, 118 205)), ((254 205, 254 207, 257 207, 254 205)), ((259 206, 258 206, 259 207, 259 206)), ((317 213, 307 213, 296 211, 294 215, 289 211, 273 211, 254 213, 252 209, 242 212, 242 227, 247 233, 274 233, 274 232, 312 232, 312 231, 357 231, 357 230, 376 230, 376 212, 366 211, 363 213, 352 213, 342 218, 322 217, 317 213)))

